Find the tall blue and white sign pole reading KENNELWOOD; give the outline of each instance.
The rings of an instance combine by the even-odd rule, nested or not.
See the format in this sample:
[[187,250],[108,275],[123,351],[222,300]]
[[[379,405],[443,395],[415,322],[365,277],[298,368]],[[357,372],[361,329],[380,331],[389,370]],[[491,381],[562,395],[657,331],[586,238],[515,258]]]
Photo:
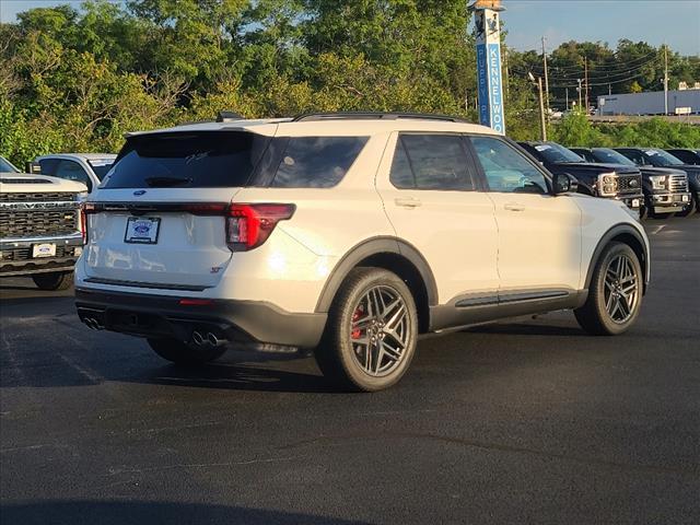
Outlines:
[[503,80],[501,73],[501,0],[476,0],[477,85],[479,122],[505,135]]

